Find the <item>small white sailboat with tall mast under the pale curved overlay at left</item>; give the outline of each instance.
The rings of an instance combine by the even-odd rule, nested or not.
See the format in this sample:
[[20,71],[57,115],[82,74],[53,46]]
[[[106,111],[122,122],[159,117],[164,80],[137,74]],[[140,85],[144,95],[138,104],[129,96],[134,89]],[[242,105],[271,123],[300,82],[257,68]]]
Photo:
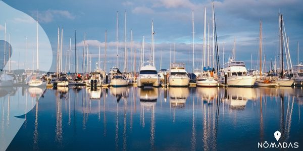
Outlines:
[[39,73],[39,44],[38,44],[38,20],[36,21],[36,30],[37,30],[37,35],[36,35],[36,38],[37,38],[37,73],[35,75],[33,75],[28,83],[28,86],[29,87],[43,87],[43,86],[46,86],[46,81],[45,80],[42,80],[42,79],[39,79],[38,78],[38,73]]

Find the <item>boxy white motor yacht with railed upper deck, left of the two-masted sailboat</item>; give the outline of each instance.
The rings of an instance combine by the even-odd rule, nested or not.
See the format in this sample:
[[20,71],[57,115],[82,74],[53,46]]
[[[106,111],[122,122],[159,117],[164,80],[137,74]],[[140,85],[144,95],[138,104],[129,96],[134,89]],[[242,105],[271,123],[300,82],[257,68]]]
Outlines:
[[189,77],[184,63],[171,64],[168,82],[170,87],[187,87],[189,85]]

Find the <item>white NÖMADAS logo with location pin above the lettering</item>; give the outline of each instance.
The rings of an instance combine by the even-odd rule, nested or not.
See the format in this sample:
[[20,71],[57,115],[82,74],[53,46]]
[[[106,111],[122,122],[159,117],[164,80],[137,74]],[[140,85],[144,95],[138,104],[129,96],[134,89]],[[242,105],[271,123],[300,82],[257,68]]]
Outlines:
[[[280,131],[275,131],[274,132],[274,137],[276,138],[277,141],[279,141],[281,137],[281,132]],[[283,140],[282,140],[283,141]],[[298,142],[258,142],[258,148],[298,148],[299,143]]]

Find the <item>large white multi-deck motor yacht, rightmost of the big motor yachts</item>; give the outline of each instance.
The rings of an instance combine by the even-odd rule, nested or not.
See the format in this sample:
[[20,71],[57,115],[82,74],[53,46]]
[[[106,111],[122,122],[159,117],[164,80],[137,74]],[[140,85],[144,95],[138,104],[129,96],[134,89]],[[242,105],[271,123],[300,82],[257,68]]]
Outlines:
[[224,70],[221,72],[221,84],[225,84],[225,73],[227,74],[227,84],[232,87],[252,87],[254,86],[257,77],[255,75],[247,75],[245,63],[243,61],[234,61],[229,59],[224,65]]

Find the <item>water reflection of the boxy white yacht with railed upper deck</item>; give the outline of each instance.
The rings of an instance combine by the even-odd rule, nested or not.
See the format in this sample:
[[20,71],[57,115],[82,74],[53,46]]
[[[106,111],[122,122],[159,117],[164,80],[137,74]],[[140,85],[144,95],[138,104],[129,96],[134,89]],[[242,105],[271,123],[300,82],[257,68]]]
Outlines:
[[169,103],[173,108],[184,108],[186,99],[189,96],[188,88],[169,88]]

